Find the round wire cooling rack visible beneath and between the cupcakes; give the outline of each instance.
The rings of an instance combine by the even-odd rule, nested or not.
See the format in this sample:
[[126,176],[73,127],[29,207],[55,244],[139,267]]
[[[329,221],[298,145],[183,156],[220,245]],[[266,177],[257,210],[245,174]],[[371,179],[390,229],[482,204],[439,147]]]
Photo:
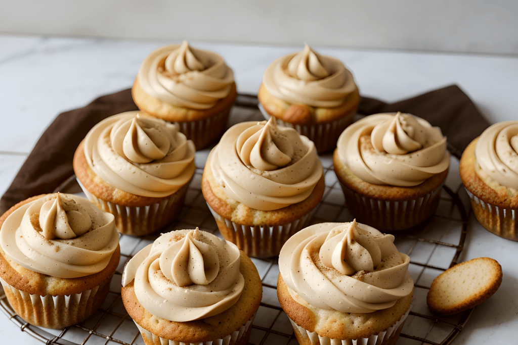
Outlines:
[[[230,117],[230,125],[242,121],[261,121],[257,110],[257,98],[253,95],[239,95],[236,107]],[[217,225],[209,212],[201,191],[203,167],[210,149],[196,152],[196,171],[186,195],[185,205],[179,220],[161,232],[178,229],[202,230],[219,235]],[[452,152],[457,156],[456,152]],[[457,263],[467,230],[467,207],[463,196],[459,196],[462,184],[458,177],[458,156],[451,158],[450,173],[441,191],[439,207],[434,216],[411,233],[397,233],[395,244],[399,251],[410,256],[409,272],[415,282],[412,310],[402,329],[398,345],[447,345],[462,331],[472,309],[456,316],[437,318],[426,306],[426,294],[431,282],[445,269]],[[312,223],[346,222],[353,220],[333,170],[332,154],[320,156],[324,166],[325,191],[322,202],[316,208]],[[80,192],[72,176],[56,191]],[[462,199],[462,200],[461,200]],[[464,202],[464,203],[463,203]],[[41,342],[63,345],[143,345],[140,333],[128,316],[120,295],[121,275],[125,263],[140,249],[152,243],[157,235],[142,238],[121,235],[121,259],[113,276],[110,292],[104,304],[84,322],[64,329],[40,328],[26,323],[10,306],[0,287],[0,309],[26,332]],[[252,258],[263,283],[263,299],[252,325],[249,344],[296,345],[290,320],[282,311],[277,299],[277,259],[260,260]],[[4,322],[0,320],[0,322]],[[13,331],[14,332],[14,331]]]

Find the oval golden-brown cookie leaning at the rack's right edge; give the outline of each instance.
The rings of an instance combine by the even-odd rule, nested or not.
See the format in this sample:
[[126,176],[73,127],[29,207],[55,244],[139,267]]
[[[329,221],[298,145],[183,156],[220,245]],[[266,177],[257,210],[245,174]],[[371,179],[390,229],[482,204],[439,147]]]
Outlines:
[[431,284],[426,304],[438,315],[468,310],[491,297],[502,282],[502,267],[491,258],[477,258],[447,269]]

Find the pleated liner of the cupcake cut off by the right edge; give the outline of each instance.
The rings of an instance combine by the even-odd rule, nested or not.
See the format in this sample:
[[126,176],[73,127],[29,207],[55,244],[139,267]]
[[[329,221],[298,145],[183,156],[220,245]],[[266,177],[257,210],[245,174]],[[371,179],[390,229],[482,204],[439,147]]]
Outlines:
[[503,238],[518,241],[516,212],[518,209],[502,208],[486,203],[474,196],[467,188],[471,207],[480,224],[488,231]]

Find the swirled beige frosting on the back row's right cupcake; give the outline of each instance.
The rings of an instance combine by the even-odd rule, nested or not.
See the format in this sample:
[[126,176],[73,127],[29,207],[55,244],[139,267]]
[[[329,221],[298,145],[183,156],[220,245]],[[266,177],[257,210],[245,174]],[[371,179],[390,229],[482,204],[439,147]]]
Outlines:
[[307,44],[303,51],[272,62],[264,72],[263,85],[286,102],[323,108],[341,106],[358,90],[351,72],[339,59],[320,55]]

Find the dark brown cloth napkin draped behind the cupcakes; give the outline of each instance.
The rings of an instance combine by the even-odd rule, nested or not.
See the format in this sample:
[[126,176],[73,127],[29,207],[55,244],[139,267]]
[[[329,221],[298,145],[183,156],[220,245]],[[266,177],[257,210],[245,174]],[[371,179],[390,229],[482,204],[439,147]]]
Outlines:
[[[97,98],[88,106],[56,117],[23,163],[11,186],[0,200],[0,215],[32,196],[51,193],[74,174],[74,152],[88,131],[102,119],[137,110],[131,90]],[[425,118],[441,128],[455,155],[489,126],[469,97],[456,85],[395,103],[362,98],[358,113],[406,112]]]

